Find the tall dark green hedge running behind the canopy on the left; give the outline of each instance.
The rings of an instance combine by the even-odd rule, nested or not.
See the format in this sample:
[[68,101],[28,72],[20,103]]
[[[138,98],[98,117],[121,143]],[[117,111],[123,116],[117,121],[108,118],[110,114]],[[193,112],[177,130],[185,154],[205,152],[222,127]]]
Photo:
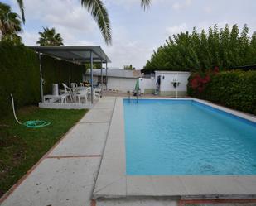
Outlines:
[[[42,71],[45,79],[44,93],[51,93],[52,83],[80,82],[84,65],[42,56]],[[0,42],[0,118],[12,112],[10,93],[20,108],[40,101],[40,74],[38,55],[26,46],[13,46]]]

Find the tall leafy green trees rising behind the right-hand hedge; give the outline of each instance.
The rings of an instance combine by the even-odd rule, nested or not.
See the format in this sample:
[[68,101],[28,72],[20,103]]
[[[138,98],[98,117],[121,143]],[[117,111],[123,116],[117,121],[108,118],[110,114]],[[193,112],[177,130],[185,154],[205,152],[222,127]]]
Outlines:
[[249,28],[239,32],[237,25],[219,29],[217,25],[198,33],[181,32],[169,36],[163,46],[153,51],[145,69],[205,71],[218,66],[232,69],[236,66],[256,64],[256,33],[249,37]]

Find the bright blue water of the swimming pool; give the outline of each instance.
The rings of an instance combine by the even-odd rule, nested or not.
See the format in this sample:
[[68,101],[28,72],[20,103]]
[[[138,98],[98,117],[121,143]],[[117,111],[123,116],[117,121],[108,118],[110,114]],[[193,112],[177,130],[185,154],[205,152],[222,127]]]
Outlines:
[[127,175],[256,175],[256,124],[192,100],[124,100]]

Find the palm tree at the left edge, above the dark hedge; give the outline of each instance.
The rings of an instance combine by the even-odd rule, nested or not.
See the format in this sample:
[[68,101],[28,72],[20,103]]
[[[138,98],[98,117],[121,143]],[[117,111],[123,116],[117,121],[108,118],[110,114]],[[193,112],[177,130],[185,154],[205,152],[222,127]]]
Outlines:
[[0,2],[0,40],[20,43],[22,38],[17,34],[22,31],[22,22],[17,13],[11,11],[11,7]]

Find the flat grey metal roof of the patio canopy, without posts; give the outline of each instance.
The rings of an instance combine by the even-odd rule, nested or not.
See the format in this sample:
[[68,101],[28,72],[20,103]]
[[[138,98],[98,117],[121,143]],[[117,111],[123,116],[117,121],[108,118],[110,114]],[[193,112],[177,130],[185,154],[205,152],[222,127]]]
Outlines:
[[94,63],[109,63],[109,57],[100,46],[27,46],[32,50],[45,55],[51,55],[62,60],[90,63],[90,53],[93,54]]

